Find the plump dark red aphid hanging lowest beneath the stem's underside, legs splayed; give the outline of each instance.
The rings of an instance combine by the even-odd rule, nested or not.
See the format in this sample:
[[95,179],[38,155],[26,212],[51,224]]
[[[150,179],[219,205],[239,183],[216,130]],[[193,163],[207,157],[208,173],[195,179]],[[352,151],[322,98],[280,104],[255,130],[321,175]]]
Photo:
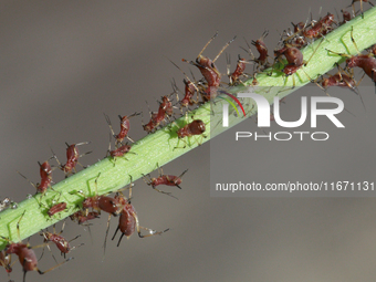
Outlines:
[[[115,237],[116,237],[117,231],[121,230],[122,236],[118,239],[117,247],[121,244],[121,241],[122,241],[124,236],[129,238],[136,230],[137,230],[137,233],[138,233],[139,238],[146,238],[146,237],[152,237],[152,236],[156,236],[156,234],[161,234],[161,233],[164,233],[164,232],[169,230],[169,228],[167,228],[164,231],[155,231],[155,230],[152,230],[152,229],[148,229],[148,228],[139,226],[136,210],[135,210],[135,208],[130,203],[132,186],[129,187],[129,198],[126,199],[123,196],[121,198],[122,198],[123,201],[125,201],[125,205],[124,205],[124,207],[122,209],[122,213],[121,213],[121,217],[118,219],[117,229],[116,229],[116,231],[115,231],[115,233],[114,233],[114,236],[112,238],[112,240],[114,240]],[[140,229],[148,230],[149,234],[142,234]]]

